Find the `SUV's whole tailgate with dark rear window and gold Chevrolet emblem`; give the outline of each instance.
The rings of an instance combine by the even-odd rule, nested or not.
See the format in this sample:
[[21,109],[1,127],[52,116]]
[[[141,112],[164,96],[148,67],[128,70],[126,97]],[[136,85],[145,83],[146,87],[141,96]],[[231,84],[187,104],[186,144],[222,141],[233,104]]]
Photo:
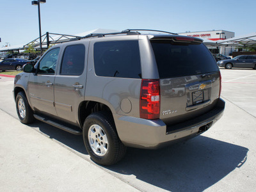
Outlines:
[[211,52],[193,38],[150,40],[161,89],[160,118],[176,124],[214,108],[220,72]]

